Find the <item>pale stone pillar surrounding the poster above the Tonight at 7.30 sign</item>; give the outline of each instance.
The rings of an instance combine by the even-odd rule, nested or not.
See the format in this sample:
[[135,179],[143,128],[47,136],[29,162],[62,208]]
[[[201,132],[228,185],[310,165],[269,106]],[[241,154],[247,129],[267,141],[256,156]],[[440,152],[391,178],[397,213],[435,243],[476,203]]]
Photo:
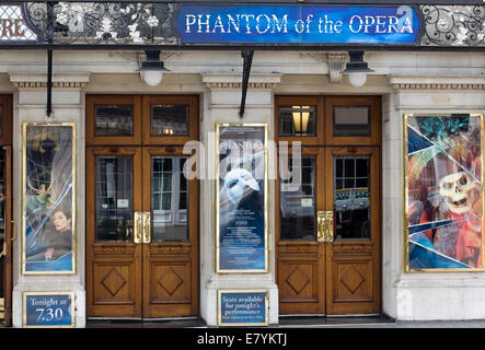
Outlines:
[[84,97],[82,89],[89,81],[88,73],[56,73],[53,77],[51,122],[77,124],[77,226],[76,271],[73,275],[22,275],[22,122],[46,122],[47,75],[45,73],[10,73],[10,81],[18,89],[13,108],[13,212],[18,222],[19,238],[13,245],[13,327],[23,326],[23,292],[74,292],[76,327],[85,327],[85,240],[84,240]]

